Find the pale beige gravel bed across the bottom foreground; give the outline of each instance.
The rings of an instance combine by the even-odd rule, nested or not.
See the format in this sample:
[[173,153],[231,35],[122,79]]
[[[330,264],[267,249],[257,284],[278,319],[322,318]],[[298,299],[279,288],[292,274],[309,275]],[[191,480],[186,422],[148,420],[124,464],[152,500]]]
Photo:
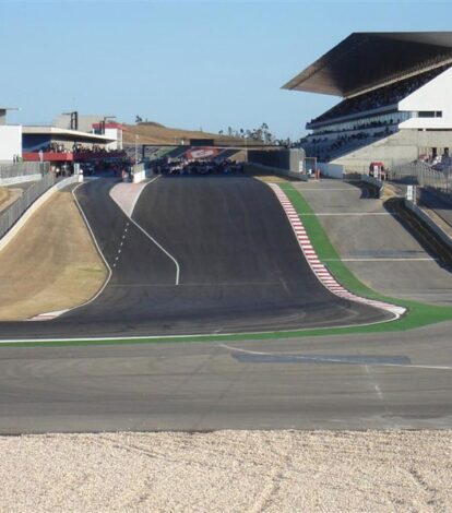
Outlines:
[[0,438],[4,512],[450,512],[452,431]]

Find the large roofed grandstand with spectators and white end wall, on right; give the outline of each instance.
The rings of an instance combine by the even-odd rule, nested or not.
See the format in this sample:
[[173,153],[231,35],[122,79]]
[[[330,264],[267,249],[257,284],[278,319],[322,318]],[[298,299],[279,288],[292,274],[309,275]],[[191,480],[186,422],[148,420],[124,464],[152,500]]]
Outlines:
[[354,33],[283,87],[343,99],[306,124],[308,157],[366,171],[452,155],[452,32]]

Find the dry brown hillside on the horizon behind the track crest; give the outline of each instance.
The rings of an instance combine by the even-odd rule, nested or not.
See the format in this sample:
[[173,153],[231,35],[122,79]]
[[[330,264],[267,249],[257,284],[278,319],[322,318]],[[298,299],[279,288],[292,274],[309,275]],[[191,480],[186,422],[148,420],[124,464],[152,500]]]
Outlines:
[[[181,144],[182,140],[214,139],[216,144],[242,146],[243,140],[218,135],[217,133],[201,132],[199,130],[181,130],[167,128],[155,122],[140,124],[123,124],[122,141],[126,145],[138,144]],[[135,136],[138,135],[138,140]],[[254,142],[255,144],[255,142]]]

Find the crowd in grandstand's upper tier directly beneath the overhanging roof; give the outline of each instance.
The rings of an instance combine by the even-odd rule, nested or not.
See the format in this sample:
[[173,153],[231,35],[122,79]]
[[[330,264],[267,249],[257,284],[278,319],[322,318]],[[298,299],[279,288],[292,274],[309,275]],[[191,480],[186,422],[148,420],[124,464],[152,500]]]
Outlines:
[[365,112],[368,110],[397,104],[411,93],[418,90],[427,82],[430,82],[432,79],[445,71],[448,68],[450,68],[450,64],[444,64],[415,76],[385,85],[378,90],[364,93],[359,96],[344,99],[332,109],[311,120],[308,123],[308,127],[313,123],[320,123],[322,121],[328,121],[334,118],[341,118],[343,116],[349,116],[356,112]]

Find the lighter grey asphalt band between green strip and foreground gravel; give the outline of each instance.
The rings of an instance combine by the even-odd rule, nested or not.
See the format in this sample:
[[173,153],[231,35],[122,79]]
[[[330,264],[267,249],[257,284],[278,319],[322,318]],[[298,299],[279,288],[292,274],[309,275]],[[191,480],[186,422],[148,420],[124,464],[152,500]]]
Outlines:
[[0,433],[452,428],[452,323],[0,350]]

